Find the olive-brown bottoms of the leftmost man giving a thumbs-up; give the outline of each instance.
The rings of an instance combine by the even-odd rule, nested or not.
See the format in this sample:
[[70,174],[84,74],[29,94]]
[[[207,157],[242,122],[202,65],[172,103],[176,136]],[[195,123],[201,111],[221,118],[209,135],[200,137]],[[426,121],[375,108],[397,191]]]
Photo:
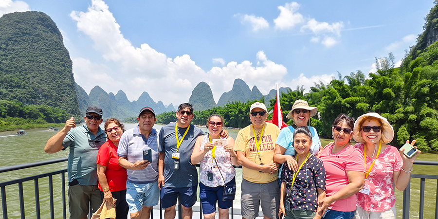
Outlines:
[[95,212],[102,204],[100,190],[97,185],[73,185],[69,186],[69,209],[70,219],[82,219],[90,212]]

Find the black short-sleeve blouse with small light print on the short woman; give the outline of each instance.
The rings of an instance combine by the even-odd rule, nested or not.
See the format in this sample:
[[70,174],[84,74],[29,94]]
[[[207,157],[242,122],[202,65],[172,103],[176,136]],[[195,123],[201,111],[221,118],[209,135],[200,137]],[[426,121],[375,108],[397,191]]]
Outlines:
[[318,190],[326,190],[326,170],[323,162],[314,155],[298,170],[292,186],[294,171],[283,164],[281,181],[286,183],[286,199],[291,201],[292,210],[316,212],[318,208]]

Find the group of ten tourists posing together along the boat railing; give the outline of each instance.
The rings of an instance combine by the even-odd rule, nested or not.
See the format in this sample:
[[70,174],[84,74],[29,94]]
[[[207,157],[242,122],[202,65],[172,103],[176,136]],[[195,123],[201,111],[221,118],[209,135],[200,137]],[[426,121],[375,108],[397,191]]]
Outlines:
[[251,125],[235,141],[222,129],[219,114],[208,117],[208,133],[190,124],[194,113],[188,103],[178,107],[177,122],[159,133],[150,107],[140,110],[135,128],[125,130],[110,118],[102,130],[102,109],[90,106],[83,126],[76,127],[73,117],[67,120],[44,150],[69,147],[71,219],[87,218],[89,206],[94,212],[103,200],[115,206],[116,218],[129,214],[131,219],[149,219],[160,200],[164,218],[174,219],[178,197],[183,219],[191,219],[198,163],[206,219],[214,219],[217,210],[219,219],[229,218],[237,188],[233,165],[242,165],[243,219],[258,217],[260,206],[264,219],[395,219],[394,187],[406,188],[420,151],[408,158],[403,149],[387,145],[394,129],[373,112],[356,121],[340,114],[332,125],[334,141],[322,146],[309,125],[317,111],[295,101],[287,115],[293,125],[280,130],[266,122],[268,110],[256,102],[249,111]]

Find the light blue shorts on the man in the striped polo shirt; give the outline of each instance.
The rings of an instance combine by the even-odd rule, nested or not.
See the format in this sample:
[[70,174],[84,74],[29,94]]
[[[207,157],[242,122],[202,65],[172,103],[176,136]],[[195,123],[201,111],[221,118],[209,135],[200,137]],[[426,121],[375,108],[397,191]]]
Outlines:
[[159,197],[158,181],[146,184],[126,182],[126,202],[129,206],[129,213],[139,212],[143,206],[157,205]]

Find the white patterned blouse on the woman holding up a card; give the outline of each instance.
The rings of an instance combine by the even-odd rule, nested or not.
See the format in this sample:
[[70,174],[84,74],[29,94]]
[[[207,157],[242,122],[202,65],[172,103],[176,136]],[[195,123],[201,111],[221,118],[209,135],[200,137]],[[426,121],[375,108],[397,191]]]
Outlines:
[[[220,137],[219,139],[226,138]],[[204,135],[200,150],[203,150],[205,144],[208,142],[210,142],[208,135]],[[231,164],[231,155],[229,152],[225,151],[223,146],[216,146],[215,159],[218,164],[216,164],[216,162],[213,160],[213,150],[209,150],[199,163],[201,175],[199,177],[199,180],[202,184],[209,187],[225,185],[226,183],[229,183],[231,180],[233,180],[233,178],[236,176],[236,170],[234,169],[233,164]],[[213,173],[212,181],[209,181],[207,179],[207,172]]]

